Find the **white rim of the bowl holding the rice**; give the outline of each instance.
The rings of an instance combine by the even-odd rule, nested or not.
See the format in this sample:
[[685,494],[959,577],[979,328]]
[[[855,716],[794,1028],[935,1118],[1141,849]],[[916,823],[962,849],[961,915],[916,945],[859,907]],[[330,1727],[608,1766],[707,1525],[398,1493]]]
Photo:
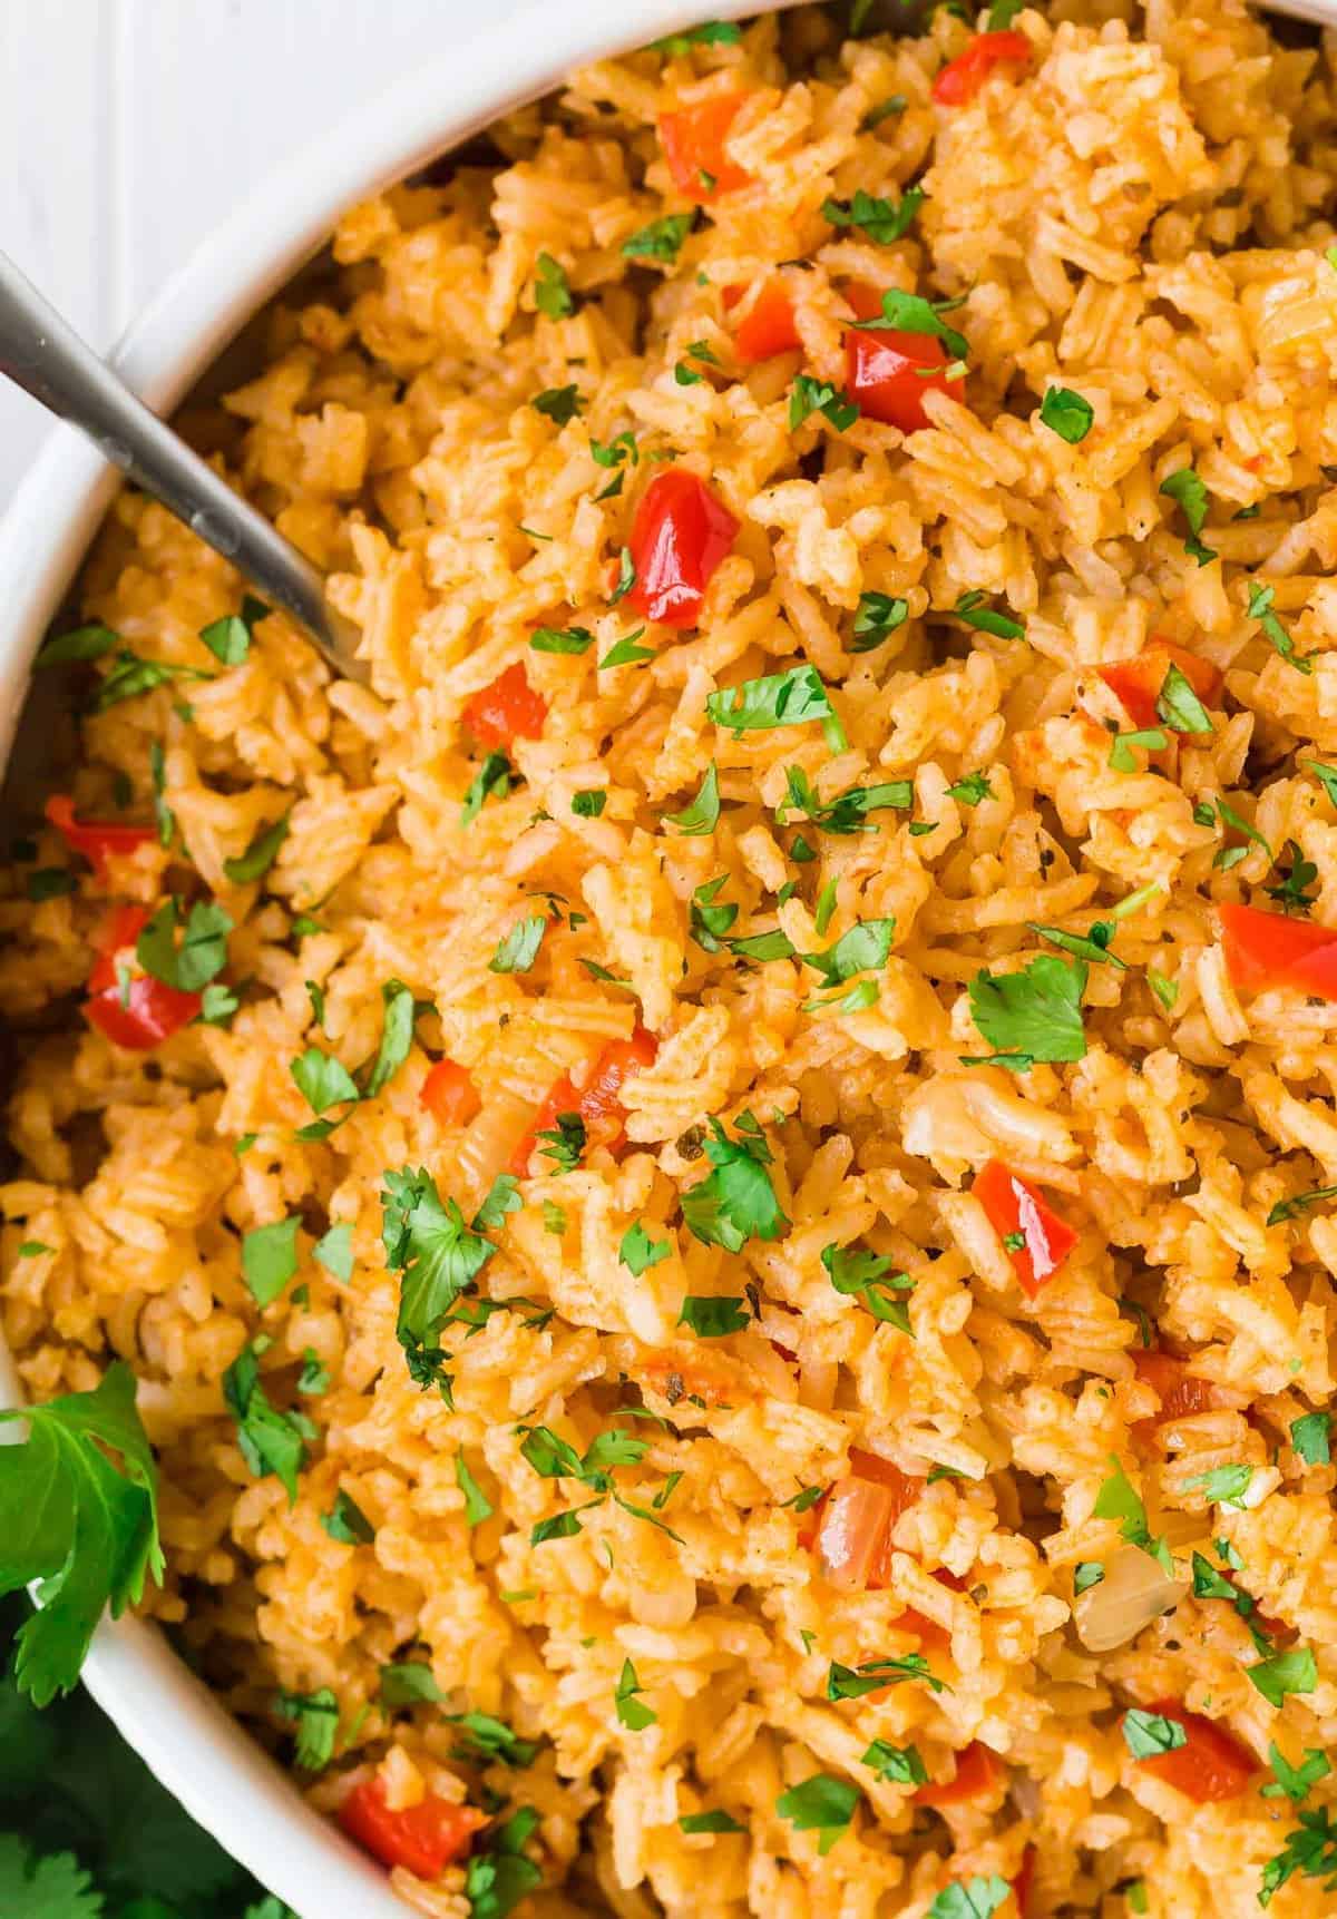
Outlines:
[[[793,0],[770,0],[790,6]],[[328,238],[338,215],[557,86],[592,59],[699,21],[740,19],[759,0],[528,0],[509,19],[450,27],[442,50],[305,146],[280,182],[204,238],[108,355],[167,413],[242,324]],[[71,426],[56,426],[0,520],[0,760],[29,668],[119,486]],[[0,1338],[0,1409],[23,1393]],[[17,1437],[13,1426],[0,1428]],[[403,1919],[373,1861],[313,1812],[288,1775],[144,1620],[104,1620],[85,1685],[186,1812],[304,1919]]]

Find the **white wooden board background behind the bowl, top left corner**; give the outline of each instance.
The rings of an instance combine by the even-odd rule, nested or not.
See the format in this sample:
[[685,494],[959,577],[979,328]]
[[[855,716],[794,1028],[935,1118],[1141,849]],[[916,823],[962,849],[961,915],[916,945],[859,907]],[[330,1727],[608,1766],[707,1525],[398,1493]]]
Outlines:
[[[425,50],[467,59],[476,19],[478,0],[0,0],[0,248],[108,347],[286,155]],[[2,384],[0,510],[44,432]]]

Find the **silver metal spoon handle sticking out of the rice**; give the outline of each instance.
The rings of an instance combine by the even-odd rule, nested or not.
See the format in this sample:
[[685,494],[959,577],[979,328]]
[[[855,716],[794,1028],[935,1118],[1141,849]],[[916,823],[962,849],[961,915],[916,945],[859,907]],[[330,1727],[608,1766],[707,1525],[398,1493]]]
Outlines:
[[325,576],[192,453],[0,253],[0,372],[161,501],[311,635],[346,679],[367,679],[359,629],[325,599]]

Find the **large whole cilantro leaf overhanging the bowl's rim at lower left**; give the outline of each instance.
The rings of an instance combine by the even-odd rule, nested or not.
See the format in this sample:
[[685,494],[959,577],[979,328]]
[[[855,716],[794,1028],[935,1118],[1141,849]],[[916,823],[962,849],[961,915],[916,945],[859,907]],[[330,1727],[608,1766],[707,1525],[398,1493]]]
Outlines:
[[119,1618],[146,1577],[163,1575],[158,1468],[123,1361],[90,1393],[0,1412],[0,1424],[19,1418],[29,1422],[23,1445],[0,1445],[0,1593],[40,1581],[40,1610],[17,1633],[15,1677],[46,1706],[79,1679],[104,1608]]

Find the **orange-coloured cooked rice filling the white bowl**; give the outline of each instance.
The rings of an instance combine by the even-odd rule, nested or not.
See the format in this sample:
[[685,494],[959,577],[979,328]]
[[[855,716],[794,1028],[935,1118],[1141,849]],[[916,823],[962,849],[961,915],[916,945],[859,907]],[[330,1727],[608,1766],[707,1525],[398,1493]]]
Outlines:
[[[1033,1848],[1032,1919],[1245,1919],[1297,1823],[1287,1798],[1258,1792],[1268,1746],[1299,1764],[1337,1735],[1333,1468],[1306,1466],[1289,1432],[1333,1391],[1337,1222],[1320,1203],[1264,1224],[1337,1180],[1337,1004],[1239,992],[1216,917],[1222,902],[1272,906],[1272,854],[1295,841],[1318,869],[1312,921],[1337,925],[1337,825],[1302,764],[1337,756],[1333,42],[1279,42],[1235,0],[1155,0],[1145,15],[1058,0],[1014,27],[1033,71],[997,73],[955,109],[930,84],[974,29],[945,10],[922,38],[841,44],[834,10],[805,10],[736,44],[609,59],[503,121],[501,165],[353,209],[338,274],[273,311],[263,372],[194,424],[332,572],[371,687],[332,679],[271,616],[240,666],[90,718],[79,816],[150,817],[161,743],[181,841],[113,860],[102,881],[73,860],[79,888],[38,904],[31,864],[15,864],[0,906],[0,1004],[23,1032],[4,1334],[29,1391],[86,1389],[111,1357],[131,1361],[169,1554],[146,1610],[179,1625],[279,1750],[275,1693],[334,1689],[344,1744],[311,1783],[319,1806],[375,1767],[392,1804],[425,1789],[478,1800],[482,1781],[534,1806],[547,1881],[534,1915],[586,1909],[580,1886],[597,1881],[626,1919],[922,1919],[951,1883],[1014,1879]],[[751,98],[728,157],[753,184],[707,207],[676,265],[628,261],[630,234],[684,209],[657,113],[734,84]],[[891,96],[903,109],[864,129]],[[928,198],[893,244],[820,215],[828,196],[895,198],[920,177]],[[536,313],[540,253],[569,274],[574,315]],[[790,261],[801,363],[740,372],[722,290]],[[960,397],[928,391],[932,426],[909,438],[868,416],[791,432],[799,365],[845,380],[843,290],[859,280],[964,296]],[[680,384],[699,342],[720,370]],[[532,399],[569,382],[584,411],[559,426]],[[1091,403],[1085,441],[1041,424],[1051,384]],[[611,468],[592,438],[626,430],[640,464],[599,499]],[[709,480],[740,532],[699,629],[651,626],[647,664],[599,670],[644,626],[609,603],[609,580],[661,459]],[[1195,562],[1158,493],[1187,464],[1214,503],[1218,564]],[[1247,616],[1254,581],[1276,589],[1310,674]],[[240,593],[221,558],[125,493],[83,603],[138,654],[213,670],[196,635]],[[905,597],[911,616],[855,651],[864,593]],[[1024,639],[953,620],[962,593],[1024,622]],[[594,645],[536,652],[538,626],[586,628]],[[1153,633],[1220,668],[1226,693],[1210,739],[1135,748],[1126,771],[1108,729],[1130,722],[1097,668]],[[814,725],[736,739],[709,722],[713,689],[805,660],[836,689],[843,750]],[[482,752],[461,712],[515,662],[547,723],[513,745],[511,791],[465,827]],[[665,816],[711,762],[718,825],[682,835]],[[911,779],[914,808],[849,837],[809,825],[818,858],[801,865],[776,821],[788,768],[822,798]],[[974,771],[991,796],[966,804],[949,789]],[[572,794],[590,789],[603,812],[578,817]],[[1203,821],[1222,796],[1268,846],[1233,833],[1220,860],[1222,821]],[[288,808],[277,864],[232,885],[223,862]],[[38,865],[65,858],[46,829]],[[690,902],[718,875],[740,908],[730,938],[780,927],[809,954],[895,917],[876,1002],[813,1011],[797,958],[707,952]],[[1082,1059],[1022,1075],[960,1063],[993,1050],[970,1017],[982,967],[1043,950],[1032,923],[1087,935],[1153,881],[1118,927],[1128,971],[1091,965]],[[192,888],[236,923],[225,977],[242,1007],[231,1027],[121,1052],[67,998],[108,902]],[[547,898],[534,967],[490,971]],[[304,913],[319,931],[296,936]],[[1178,988],[1170,1006],[1149,969]],[[407,1063],[327,1140],[296,1140],[311,1111],[288,1061],[315,1044],[359,1067],[390,979],[434,1007]],[[626,1084],[630,1149],[596,1142],[574,1171],[523,1180],[480,1295],[536,1307],[453,1330],[451,1410],[396,1341],[384,1173],[430,1169],[471,1217],[549,1086],[563,1073],[578,1086],[638,1019],[659,1057]],[[440,1055],[482,1100],[465,1128],[421,1103]],[[730,1255],[678,1207],[707,1123],[732,1134],[749,1111],[791,1224]],[[972,1196],[991,1157],[1080,1230],[1033,1299]],[[309,1228],[300,1272],[259,1311],[240,1236],[292,1213]],[[636,1220],[670,1249],[638,1278],[619,1259]],[[309,1257],[328,1222],[353,1230],[348,1284]],[[46,1251],[21,1255],[31,1242]],[[899,1295],[911,1338],[832,1288],[822,1249],[855,1242],[916,1282]],[[695,1338],[678,1313],[703,1293],[751,1299],[755,1324]],[[1214,1410],[1151,1439],[1139,1322],[1220,1387]],[[261,1330],[271,1399],[321,1430],[294,1504],[252,1476],[221,1395]],[[307,1351],[330,1386],[298,1401]],[[605,1497],[574,1537],[530,1545],[536,1522],[596,1495],[540,1478],[517,1428],[584,1451],[636,1405],[659,1424],[636,1424],[649,1449],[617,1468],[628,1504]],[[841,1480],[851,1445],[922,1481],[884,1589],[824,1579],[786,1504]],[[473,1529],[461,1449],[496,1508]],[[1314,1648],[1312,1691],[1268,1704],[1247,1677],[1245,1620],[1183,1585],[1135,1637],[1087,1648],[1078,1564],[1151,1564],[1093,1512],[1110,1455],[1185,1577],[1195,1549],[1229,1541],[1281,1643]],[[1226,1464],[1254,1468],[1241,1508],[1193,1483]],[[655,1512],[668,1474],[682,1478]],[[323,1529],[340,1489],[375,1545]],[[924,1645],[941,1691],[828,1700],[834,1660]],[[415,1650],[448,1704],[388,1712],[380,1668]],[[657,1714],[644,1729],[615,1710],[626,1660]],[[1256,1756],[1247,1792],[1197,1806],[1133,1758],[1122,1712],[1162,1698]],[[505,1719],[538,1758],[478,1773],[446,1710]],[[930,1812],[874,1777],[872,1741],[914,1742],[934,1779],[980,1741],[997,1783]],[[863,1796],[824,1856],[776,1812],[818,1771]],[[1331,1808],[1329,1783],[1306,1804]],[[684,1835],[680,1817],[705,1808],[743,1833]],[[423,1913],[469,1911],[459,1865],[434,1886],[400,1869],[396,1884]],[[1272,1911],[1333,1909],[1316,1884],[1297,1875]]]

